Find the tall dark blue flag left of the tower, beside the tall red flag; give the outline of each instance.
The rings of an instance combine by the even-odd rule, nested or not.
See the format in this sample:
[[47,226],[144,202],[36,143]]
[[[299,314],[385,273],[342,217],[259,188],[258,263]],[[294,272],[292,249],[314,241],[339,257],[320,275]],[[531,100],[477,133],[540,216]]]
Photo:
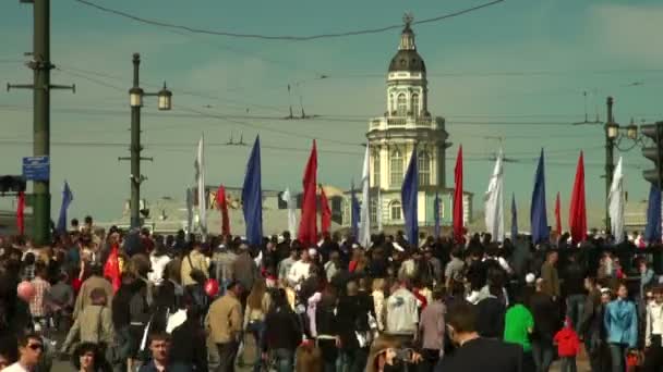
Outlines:
[[255,137],[251,150],[244,186],[242,186],[242,202],[244,223],[246,224],[246,241],[251,245],[263,243],[263,188],[261,183],[261,137]]

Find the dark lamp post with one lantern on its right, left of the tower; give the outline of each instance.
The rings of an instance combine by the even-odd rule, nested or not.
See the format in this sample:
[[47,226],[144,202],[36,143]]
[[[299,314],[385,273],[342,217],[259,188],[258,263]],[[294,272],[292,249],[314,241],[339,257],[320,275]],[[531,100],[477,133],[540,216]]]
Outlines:
[[141,151],[143,146],[141,145],[141,108],[143,107],[144,97],[157,97],[157,108],[161,111],[170,110],[172,107],[172,92],[164,88],[158,92],[145,92],[140,86],[140,65],[141,54],[133,54],[133,86],[129,89],[129,104],[131,107],[131,158],[120,158],[120,160],[131,160],[131,227],[141,227],[141,183],[146,179],[141,174],[141,161],[149,160],[152,158],[142,158]]

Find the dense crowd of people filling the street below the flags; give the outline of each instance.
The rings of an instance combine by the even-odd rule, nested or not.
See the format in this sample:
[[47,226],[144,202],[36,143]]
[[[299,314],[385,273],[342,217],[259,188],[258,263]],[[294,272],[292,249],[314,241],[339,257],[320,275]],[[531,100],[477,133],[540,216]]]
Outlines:
[[658,248],[600,234],[53,236],[0,236],[1,371],[663,371]]

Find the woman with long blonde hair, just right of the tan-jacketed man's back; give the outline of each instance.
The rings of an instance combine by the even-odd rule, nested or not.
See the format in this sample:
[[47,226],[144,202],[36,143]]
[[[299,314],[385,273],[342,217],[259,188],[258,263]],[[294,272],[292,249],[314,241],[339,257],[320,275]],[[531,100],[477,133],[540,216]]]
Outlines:
[[256,360],[253,365],[254,371],[262,369],[261,345],[265,334],[265,317],[272,306],[272,298],[267,292],[264,278],[258,278],[253,283],[253,288],[246,298],[246,309],[244,311],[244,330],[255,338]]

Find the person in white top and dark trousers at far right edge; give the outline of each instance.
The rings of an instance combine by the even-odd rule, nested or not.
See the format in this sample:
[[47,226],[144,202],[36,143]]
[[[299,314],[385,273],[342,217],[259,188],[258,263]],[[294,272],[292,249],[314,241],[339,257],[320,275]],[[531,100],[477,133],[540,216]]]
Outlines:
[[653,290],[654,300],[647,306],[644,328],[644,371],[655,371],[663,365],[663,287]]

